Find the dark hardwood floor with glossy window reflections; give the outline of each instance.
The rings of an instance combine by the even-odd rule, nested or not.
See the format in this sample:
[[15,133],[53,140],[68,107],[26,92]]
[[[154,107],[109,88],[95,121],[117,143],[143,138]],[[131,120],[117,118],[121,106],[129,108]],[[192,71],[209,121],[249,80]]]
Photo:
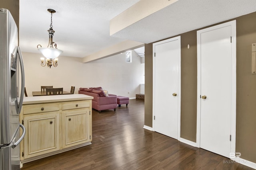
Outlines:
[[252,170],[204,149],[143,129],[144,100],[92,111],[92,145],[23,164],[22,170]]

